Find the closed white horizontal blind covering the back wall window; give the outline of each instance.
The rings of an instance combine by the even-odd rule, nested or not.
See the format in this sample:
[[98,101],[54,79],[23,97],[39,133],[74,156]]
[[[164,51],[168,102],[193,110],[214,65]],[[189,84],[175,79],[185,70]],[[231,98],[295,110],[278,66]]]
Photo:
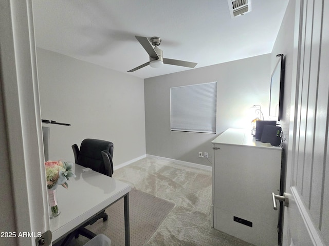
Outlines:
[[217,82],[170,88],[171,130],[216,133]]

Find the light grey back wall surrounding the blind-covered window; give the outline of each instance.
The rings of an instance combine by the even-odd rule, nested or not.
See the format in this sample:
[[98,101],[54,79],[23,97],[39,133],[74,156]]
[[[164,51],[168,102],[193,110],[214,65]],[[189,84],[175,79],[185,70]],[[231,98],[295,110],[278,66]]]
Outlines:
[[[270,58],[255,56],[145,79],[147,154],[210,166],[198,152],[213,156],[211,141],[219,133],[250,126],[252,105],[261,105],[268,115]],[[217,81],[217,134],[171,132],[170,88],[212,81]]]

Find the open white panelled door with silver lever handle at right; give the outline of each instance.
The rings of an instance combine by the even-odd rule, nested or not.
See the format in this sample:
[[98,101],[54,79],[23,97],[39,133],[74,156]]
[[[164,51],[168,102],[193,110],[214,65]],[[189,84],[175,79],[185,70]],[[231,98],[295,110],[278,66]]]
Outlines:
[[283,245],[329,245],[329,1],[296,0],[294,49]]

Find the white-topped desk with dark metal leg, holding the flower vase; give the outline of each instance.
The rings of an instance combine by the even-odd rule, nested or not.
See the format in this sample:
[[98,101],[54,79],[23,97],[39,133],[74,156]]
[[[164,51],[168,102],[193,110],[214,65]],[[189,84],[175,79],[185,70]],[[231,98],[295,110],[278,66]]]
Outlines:
[[[83,172],[75,165],[76,178],[70,178],[68,189],[57,189],[61,214],[50,219],[52,241],[79,228],[85,221],[124,197],[125,243],[130,245],[129,199],[131,186],[95,171]],[[109,215],[111,217],[111,215]]]

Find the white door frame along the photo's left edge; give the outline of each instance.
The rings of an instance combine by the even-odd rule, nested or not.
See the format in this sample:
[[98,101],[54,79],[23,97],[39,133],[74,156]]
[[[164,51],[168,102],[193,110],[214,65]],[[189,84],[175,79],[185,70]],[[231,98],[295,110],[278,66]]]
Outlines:
[[8,233],[0,244],[36,245],[50,223],[31,0],[1,0],[0,23],[0,104],[6,126],[0,134],[6,139],[10,169],[6,175],[11,180],[6,186],[14,201],[2,214],[6,210],[15,214],[10,231],[7,224],[0,224]]

